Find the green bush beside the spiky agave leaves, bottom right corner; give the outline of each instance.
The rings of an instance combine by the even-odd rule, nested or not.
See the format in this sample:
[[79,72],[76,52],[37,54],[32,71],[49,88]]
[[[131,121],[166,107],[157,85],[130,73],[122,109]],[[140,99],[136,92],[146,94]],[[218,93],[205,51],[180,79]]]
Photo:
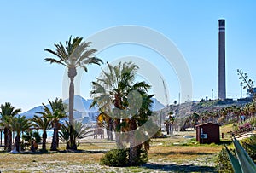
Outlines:
[[[232,153],[235,153],[234,150],[230,150]],[[232,168],[232,164],[230,163],[230,159],[228,156],[227,151],[225,148],[223,148],[220,153],[218,153],[218,158],[217,158],[217,170],[219,172],[234,172]]]

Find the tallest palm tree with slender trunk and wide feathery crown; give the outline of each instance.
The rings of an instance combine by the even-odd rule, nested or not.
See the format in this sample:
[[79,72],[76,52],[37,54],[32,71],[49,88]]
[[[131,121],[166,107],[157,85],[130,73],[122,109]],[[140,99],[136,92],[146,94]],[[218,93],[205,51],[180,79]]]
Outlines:
[[[69,37],[66,46],[60,42],[55,44],[55,50],[45,49],[45,51],[57,56],[55,58],[45,58],[44,61],[50,63],[61,64],[66,66],[67,76],[70,78],[69,86],[69,122],[73,124],[73,97],[74,97],[74,84],[73,79],[77,75],[77,67],[82,67],[87,72],[87,65],[96,64],[100,65],[102,60],[95,57],[96,49],[89,49],[91,42],[82,42],[83,37]],[[72,126],[71,126],[72,127]],[[73,130],[73,128],[71,129]],[[73,136],[71,138],[71,147],[76,148],[76,142]]]

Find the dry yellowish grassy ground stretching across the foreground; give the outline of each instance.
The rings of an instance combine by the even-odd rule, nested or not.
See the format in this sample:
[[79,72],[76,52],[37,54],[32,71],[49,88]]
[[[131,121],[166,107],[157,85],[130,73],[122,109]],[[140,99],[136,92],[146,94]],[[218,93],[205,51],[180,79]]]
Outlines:
[[[114,143],[104,140],[81,143],[77,153],[0,152],[3,172],[214,172],[214,158],[222,145],[199,145],[194,139],[172,136],[155,139],[149,150],[149,162],[141,167],[116,168],[99,165],[99,160]],[[48,147],[50,145],[48,144]],[[65,145],[61,145],[61,150]]]

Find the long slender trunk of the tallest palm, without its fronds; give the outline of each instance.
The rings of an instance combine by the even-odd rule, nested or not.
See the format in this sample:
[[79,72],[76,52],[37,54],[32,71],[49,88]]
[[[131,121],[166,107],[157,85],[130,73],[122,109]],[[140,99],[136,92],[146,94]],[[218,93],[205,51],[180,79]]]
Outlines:
[[74,129],[73,129],[73,97],[74,97],[74,84],[73,79],[77,75],[77,71],[75,67],[68,68],[68,77],[70,78],[69,85],[69,123],[70,127],[70,144],[71,149],[77,150],[77,145],[74,137]]

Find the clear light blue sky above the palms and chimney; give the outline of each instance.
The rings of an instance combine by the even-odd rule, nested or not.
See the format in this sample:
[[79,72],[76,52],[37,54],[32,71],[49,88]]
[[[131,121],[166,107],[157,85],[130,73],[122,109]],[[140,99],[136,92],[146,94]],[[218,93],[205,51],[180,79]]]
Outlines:
[[[11,102],[26,112],[32,107],[62,97],[63,66],[44,62],[54,43],[70,35],[89,37],[113,26],[145,26],[160,32],[177,46],[189,66],[193,100],[217,97],[218,19],[226,20],[227,96],[240,97],[239,68],[256,79],[256,11],[254,1],[1,1],[0,2],[0,103]],[[137,55],[157,61],[152,50],[134,45],[116,46],[102,51],[103,61]],[[169,102],[180,92],[175,72],[164,75]],[[103,67],[103,66],[102,66]],[[80,84],[86,98],[90,82],[100,67],[89,67]],[[170,70],[170,69],[169,69]],[[243,95],[246,95],[245,91]],[[160,99],[165,102],[164,99]]]

